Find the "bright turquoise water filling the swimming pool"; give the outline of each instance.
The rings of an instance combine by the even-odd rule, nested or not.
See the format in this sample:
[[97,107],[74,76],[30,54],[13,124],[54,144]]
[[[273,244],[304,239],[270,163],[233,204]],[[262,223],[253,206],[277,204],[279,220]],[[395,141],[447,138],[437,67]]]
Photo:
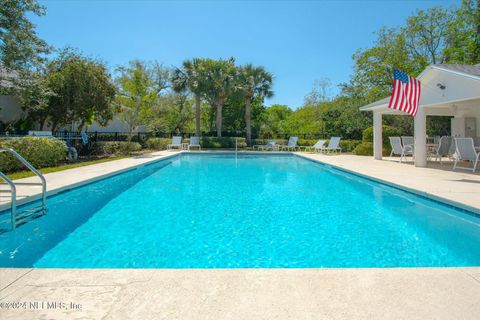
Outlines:
[[47,204],[1,267],[480,265],[477,216],[292,155],[184,154]]

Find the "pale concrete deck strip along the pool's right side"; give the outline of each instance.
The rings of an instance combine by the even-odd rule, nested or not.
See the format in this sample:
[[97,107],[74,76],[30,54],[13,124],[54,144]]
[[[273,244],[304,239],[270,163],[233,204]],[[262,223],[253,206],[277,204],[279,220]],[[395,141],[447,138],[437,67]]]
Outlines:
[[428,168],[392,160],[374,160],[354,155],[298,155],[368,176],[480,214],[480,173],[457,170],[451,164],[429,164]]

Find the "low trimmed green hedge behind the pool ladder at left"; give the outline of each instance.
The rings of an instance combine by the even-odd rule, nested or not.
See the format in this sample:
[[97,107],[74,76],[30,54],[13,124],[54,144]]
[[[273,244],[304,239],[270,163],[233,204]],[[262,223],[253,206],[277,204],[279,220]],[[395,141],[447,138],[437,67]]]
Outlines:
[[[9,138],[0,140],[0,146],[14,149],[35,168],[57,165],[66,160],[68,151],[62,140],[45,137]],[[0,171],[12,172],[24,168],[25,166],[12,155],[0,153]]]

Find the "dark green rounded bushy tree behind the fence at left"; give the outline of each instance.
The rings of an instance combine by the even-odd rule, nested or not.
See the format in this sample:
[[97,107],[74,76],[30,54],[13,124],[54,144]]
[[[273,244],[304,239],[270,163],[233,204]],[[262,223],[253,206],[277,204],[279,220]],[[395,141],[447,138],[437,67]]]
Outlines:
[[112,119],[115,86],[105,65],[65,49],[47,65],[46,87],[53,92],[48,102],[52,130],[77,123],[77,130],[97,121]]

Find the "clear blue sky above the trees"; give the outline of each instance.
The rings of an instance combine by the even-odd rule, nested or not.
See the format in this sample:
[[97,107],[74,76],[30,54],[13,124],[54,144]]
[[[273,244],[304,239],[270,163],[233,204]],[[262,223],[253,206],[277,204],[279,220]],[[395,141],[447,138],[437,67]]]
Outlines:
[[178,66],[192,57],[263,65],[275,76],[267,104],[297,108],[313,81],[348,81],[352,54],[381,26],[402,25],[416,9],[445,1],[40,1],[39,35],[107,62]]

